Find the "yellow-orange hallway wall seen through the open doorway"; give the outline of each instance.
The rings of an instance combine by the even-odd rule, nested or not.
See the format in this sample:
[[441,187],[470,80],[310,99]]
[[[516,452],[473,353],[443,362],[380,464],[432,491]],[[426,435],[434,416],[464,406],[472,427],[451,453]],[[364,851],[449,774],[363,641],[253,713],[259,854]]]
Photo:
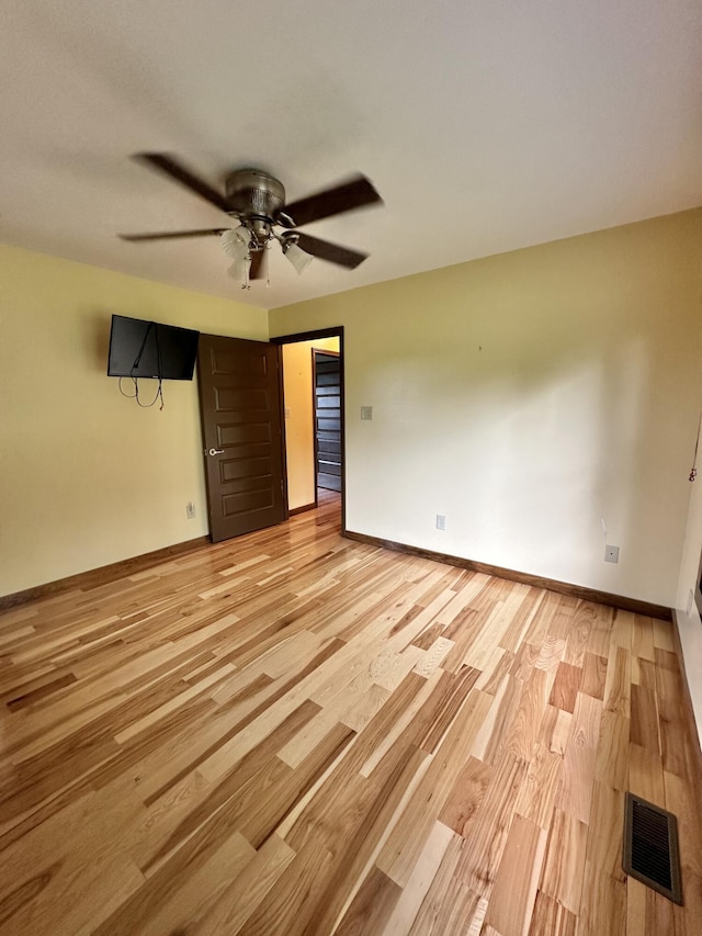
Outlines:
[[312,405],[312,349],[338,351],[338,338],[283,345],[287,506],[315,503],[315,439]]

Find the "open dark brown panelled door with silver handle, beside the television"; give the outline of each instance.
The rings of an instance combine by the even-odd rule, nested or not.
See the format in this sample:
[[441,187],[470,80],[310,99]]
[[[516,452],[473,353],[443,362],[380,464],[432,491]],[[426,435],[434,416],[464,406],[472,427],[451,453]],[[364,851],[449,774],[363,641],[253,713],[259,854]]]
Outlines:
[[201,335],[200,413],[213,542],[286,519],[278,347]]

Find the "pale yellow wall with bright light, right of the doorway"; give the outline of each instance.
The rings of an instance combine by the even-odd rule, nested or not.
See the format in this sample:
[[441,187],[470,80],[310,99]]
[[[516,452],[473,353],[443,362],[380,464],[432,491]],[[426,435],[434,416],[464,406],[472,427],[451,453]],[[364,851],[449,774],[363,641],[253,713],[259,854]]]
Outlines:
[[344,326],[348,528],[671,607],[701,259],[698,210],[272,311]]

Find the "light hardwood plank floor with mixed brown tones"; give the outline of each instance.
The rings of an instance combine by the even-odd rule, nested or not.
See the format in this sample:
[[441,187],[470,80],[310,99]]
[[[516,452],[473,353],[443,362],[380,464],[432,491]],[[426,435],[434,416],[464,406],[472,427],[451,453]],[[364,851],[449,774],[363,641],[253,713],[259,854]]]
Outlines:
[[[0,933],[700,936],[672,625],[337,507],[0,617]],[[621,869],[626,789],[684,907]]]

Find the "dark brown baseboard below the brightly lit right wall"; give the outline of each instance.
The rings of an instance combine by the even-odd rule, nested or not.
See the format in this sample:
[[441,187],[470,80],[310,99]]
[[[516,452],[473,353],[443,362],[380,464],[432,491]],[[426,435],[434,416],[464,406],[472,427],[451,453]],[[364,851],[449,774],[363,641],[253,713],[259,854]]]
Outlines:
[[485,562],[475,562],[472,559],[446,555],[445,553],[424,550],[420,546],[408,546],[405,543],[382,540],[380,537],[369,537],[365,533],[356,533],[352,530],[347,530],[344,535],[350,540],[358,540],[360,543],[370,543],[373,546],[382,546],[386,550],[417,555],[421,559],[433,560],[434,562],[443,562],[446,565],[456,565],[460,568],[469,568],[472,572],[483,572],[486,575],[508,578],[510,582],[520,582],[523,585],[535,585],[537,588],[547,588],[550,591],[558,591],[561,595],[582,598],[585,601],[596,601],[598,605],[608,605],[611,608],[633,611],[635,614],[646,614],[648,618],[660,618],[664,621],[672,620],[672,612],[665,605],[652,605],[648,601],[638,601],[636,598],[625,598],[621,595],[611,595],[609,591],[598,591],[596,588],[587,588],[584,585],[570,585],[568,582],[558,582],[555,578],[542,578],[539,575],[530,575],[526,572],[516,572],[511,568],[502,568],[499,565],[488,565]]

